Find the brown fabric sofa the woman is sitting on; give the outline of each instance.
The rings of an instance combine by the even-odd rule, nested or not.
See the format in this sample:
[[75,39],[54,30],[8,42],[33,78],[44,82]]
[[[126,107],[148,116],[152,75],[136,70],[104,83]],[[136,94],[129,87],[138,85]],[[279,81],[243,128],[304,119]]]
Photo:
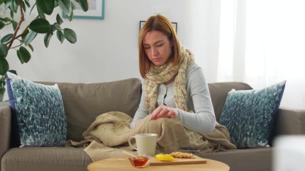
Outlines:
[[[55,82],[38,82],[53,85]],[[138,78],[102,83],[58,83],[67,118],[67,139],[80,141],[82,133],[95,117],[108,111],[121,111],[133,117],[141,96]],[[227,93],[232,89],[252,89],[243,82],[209,83],[209,90],[218,120]],[[15,120],[15,121],[14,121]],[[87,170],[92,162],[82,147],[16,147],[16,117],[9,101],[0,103],[1,171],[13,170]],[[230,170],[271,170],[272,139],[283,134],[305,134],[305,110],[280,108],[274,123],[271,147],[244,148],[214,153],[195,153],[204,158],[222,161]]]

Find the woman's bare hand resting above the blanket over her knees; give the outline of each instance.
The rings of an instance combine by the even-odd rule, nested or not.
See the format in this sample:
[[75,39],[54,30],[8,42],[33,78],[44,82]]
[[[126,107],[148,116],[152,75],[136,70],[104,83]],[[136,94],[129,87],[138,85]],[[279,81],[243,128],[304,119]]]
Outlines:
[[153,113],[151,113],[150,120],[156,120],[158,118],[176,118],[177,110],[173,107],[168,107],[164,104],[157,107]]

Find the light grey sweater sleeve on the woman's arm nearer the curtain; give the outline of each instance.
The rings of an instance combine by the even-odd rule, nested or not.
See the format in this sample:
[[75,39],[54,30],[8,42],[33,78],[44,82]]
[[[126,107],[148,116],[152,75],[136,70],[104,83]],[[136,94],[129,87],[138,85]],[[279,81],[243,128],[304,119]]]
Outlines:
[[215,128],[216,118],[213,104],[203,70],[192,64],[187,71],[187,91],[194,104],[194,112],[177,109],[177,120],[186,128],[198,132],[211,132]]

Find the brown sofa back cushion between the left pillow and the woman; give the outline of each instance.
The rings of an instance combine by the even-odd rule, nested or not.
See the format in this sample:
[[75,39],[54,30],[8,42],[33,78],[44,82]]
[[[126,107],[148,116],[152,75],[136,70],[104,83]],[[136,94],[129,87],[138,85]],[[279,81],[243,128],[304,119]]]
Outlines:
[[[52,85],[55,82],[38,82]],[[121,111],[133,117],[141,97],[138,78],[102,83],[58,83],[66,117],[67,139],[80,141],[99,114]]]

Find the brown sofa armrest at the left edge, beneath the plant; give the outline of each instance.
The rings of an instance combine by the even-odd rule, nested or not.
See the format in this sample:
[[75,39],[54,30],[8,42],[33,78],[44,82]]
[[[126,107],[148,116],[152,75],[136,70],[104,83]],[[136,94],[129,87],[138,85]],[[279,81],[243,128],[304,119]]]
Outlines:
[[10,102],[0,102],[0,159],[10,148],[11,115]]

